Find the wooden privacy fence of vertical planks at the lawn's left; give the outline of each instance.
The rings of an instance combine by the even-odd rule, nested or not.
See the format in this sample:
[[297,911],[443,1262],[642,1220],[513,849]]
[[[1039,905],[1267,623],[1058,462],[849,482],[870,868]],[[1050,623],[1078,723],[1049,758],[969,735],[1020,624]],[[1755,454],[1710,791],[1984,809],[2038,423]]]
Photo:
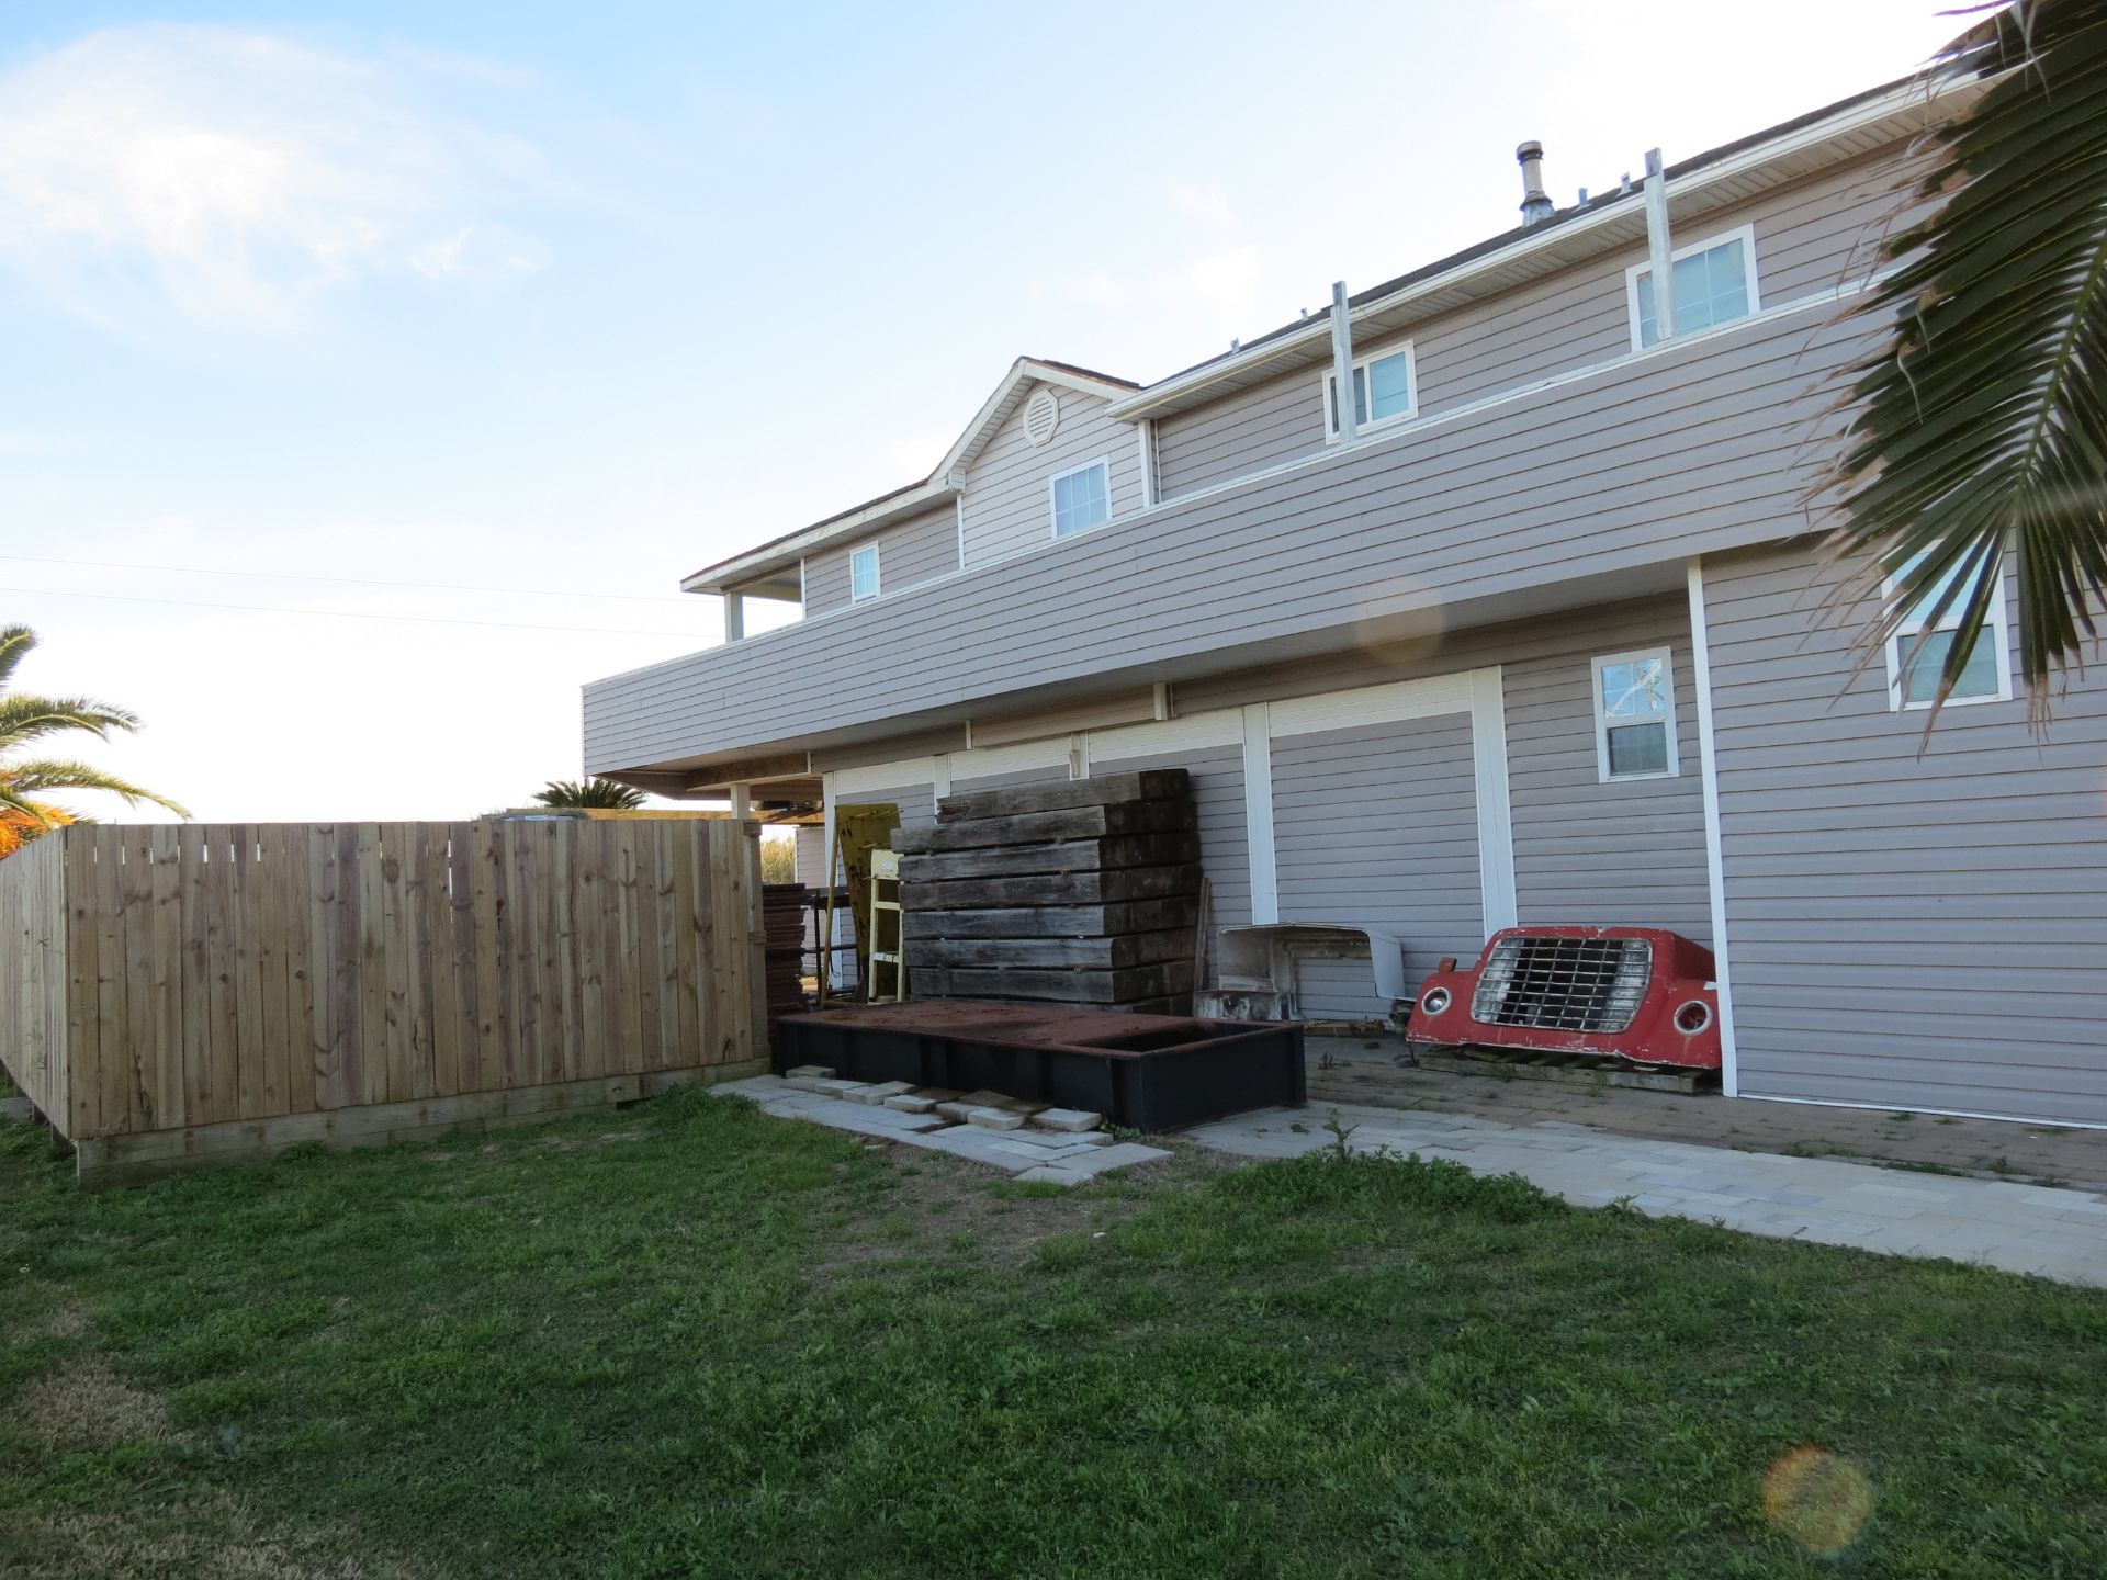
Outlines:
[[0,1062],[84,1167],[88,1142],[166,1154],[112,1138],[402,1133],[765,1055],[744,822],[76,826],[0,862]]

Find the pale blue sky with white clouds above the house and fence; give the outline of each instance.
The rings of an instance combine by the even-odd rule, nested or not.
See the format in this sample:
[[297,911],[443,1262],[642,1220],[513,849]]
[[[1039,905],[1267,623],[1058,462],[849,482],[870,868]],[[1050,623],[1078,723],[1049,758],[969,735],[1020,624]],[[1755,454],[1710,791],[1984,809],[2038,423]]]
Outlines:
[[921,476],[1016,354],[1159,377],[1511,225],[1523,137],[1570,202],[1953,29],[4,6],[0,615],[200,815],[516,805],[577,771],[584,680],[716,640],[681,573]]

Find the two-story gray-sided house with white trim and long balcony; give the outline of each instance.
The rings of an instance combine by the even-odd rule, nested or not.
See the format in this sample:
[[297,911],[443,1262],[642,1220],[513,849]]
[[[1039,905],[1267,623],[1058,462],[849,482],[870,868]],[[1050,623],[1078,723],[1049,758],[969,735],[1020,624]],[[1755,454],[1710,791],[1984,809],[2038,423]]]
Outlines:
[[1877,343],[1844,308],[1966,93],[1532,192],[1155,383],[1022,358],[927,478],[689,577],[733,638],[746,598],[803,619],[590,685],[586,767],[919,822],[1178,765],[1218,925],[1382,927],[1414,973],[1671,927],[1717,954],[1728,1093],[2107,1125],[2107,687],[2031,735],[2000,611],[1926,735],[1943,634],[1867,655],[1806,506]]

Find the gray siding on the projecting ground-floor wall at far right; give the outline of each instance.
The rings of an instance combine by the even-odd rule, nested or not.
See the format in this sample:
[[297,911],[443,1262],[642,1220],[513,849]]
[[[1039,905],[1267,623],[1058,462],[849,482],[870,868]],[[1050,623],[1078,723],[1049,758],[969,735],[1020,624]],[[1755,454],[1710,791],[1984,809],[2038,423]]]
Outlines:
[[1705,562],[1740,1089],[2107,1123],[2107,687],[1926,739],[1833,575]]

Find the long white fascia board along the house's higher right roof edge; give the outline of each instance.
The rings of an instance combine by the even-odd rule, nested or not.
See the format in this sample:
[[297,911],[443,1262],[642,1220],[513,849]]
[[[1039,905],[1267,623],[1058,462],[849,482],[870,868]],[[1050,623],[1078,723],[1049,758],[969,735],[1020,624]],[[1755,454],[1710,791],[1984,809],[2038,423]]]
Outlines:
[[[1690,171],[1677,177],[1669,185],[1669,200],[1688,202],[1692,196],[1700,196],[1707,187],[1721,181],[1734,181],[1749,175],[1749,171],[1761,169],[1791,154],[1818,147],[1820,143],[1833,141],[1837,137],[1848,137],[1867,126],[1875,126],[1882,120],[1898,116],[1907,110],[1928,112],[1936,99],[1966,93],[1974,84],[1953,82],[1936,88],[1928,88],[1922,82],[1905,82],[1877,99],[1867,99],[1865,103],[1850,105],[1837,112],[1829,120],[1818,120],[1812,126],[1801,126],[1799,131],[1787,133],[1785,137],[1774,137],[1764,143],[1740,150],[1738,154],[1728,154],[1726,158],[1713,160],[1700,171]],[[1414,301],[1431,297],[1435,293],[1454,291],[1458,284],[1466,284],[1479,274],[1490,274],[1492,270],[1504,270],[1517,259],[1532,257],[1536,253],[1547,253],[1555,246],[1570,244],[1574,240],[1593,236],[1603,225],[1612,225],[1646,211],[1646,187],[1633,185],[1631,192],[1616,202],[1606,202],[1593,213],[1568,219],[1559,225],[1549,225],[1540,232],[1523,232],[1509,246],[1494,253],[1473,257],[1469,263],[1458,263],[1454,270],[1443,270],[1441,274],[1429,276],[1424,280],[1414,280],[1412,284],[1393,291],[1386,297],[1374,301],[1363,301],[1353,308],[1348,322],[1363,322],[1372,316],[1391,316],[1399,310],[1410,308]],[[1393,324],[1395,329],[1395,324]],[[1161,407],[1197,394],[1224,377],[1249,373],[1262,369],[1268,362],[1294,356],[1308,350],[1311,345],[1327,345],[1332,341],[1332,324],[1323,316],[1311,318],[1306,324],[1296,324],[1287,333],[1252,345],[1243,352],[1218,358],[1214,362],[1203,362],[1190,373],[1178,373],[1161,383],[1150,383],[1144,390],[1136,390],[1123,400],[1115,400],[1108,409],[1108,417],[1119,417],[1121,421],[1138,421],[1142,417],[1155,415]]]

